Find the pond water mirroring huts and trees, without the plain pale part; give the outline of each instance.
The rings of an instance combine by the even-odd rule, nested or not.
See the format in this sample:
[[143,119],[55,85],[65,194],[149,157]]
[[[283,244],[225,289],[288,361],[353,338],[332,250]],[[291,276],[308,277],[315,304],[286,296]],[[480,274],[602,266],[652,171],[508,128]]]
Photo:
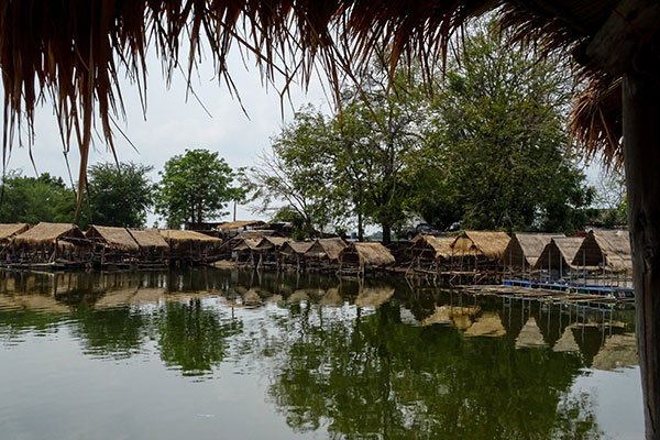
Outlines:
[[[0,341],[66,328],[84,356],[154,354],[211,381],[266,377],[298,433],[598,438],[585,369],[637,364],[631,311],[481,298],[399,280],[195,270],[8,274]],[[228,420],[231,422],[231,420]]]

